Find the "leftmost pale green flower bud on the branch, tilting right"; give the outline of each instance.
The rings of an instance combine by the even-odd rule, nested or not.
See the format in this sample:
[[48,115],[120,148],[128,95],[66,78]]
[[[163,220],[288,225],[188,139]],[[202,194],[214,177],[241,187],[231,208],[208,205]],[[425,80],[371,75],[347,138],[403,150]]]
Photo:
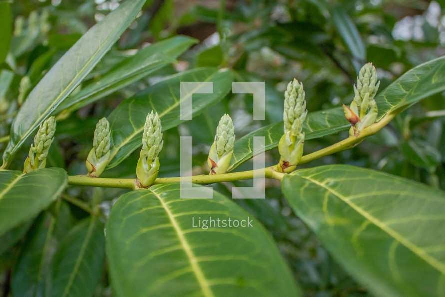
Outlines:
[[40,128],[34,137],[34,143],[29,150],[28,157],[24,162],[23,171],[25,173],[45,168],[46,157],[49,148],[54,141],[55,126],[55,117],[49,117],[40,125]]

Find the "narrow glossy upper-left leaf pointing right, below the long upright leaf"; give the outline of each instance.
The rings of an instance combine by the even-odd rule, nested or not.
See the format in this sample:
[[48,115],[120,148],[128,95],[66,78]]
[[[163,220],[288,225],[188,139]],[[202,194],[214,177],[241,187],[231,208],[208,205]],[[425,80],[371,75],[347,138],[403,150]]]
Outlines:
[[59,106],[57,112],[71,106],[71,110],[79,109],[138,81],[162,66],[174,62],[180,54],[196,42],[194,38],[175,36],[139,50],[134,56],[126,58],[113,67],[99,80],[92,82],[74,96],[68,97]]

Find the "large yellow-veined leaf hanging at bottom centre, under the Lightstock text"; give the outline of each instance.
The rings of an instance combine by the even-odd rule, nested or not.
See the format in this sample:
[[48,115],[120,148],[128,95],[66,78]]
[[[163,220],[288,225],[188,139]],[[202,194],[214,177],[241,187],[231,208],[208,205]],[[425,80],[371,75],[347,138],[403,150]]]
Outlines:
[[[299,295],[272,238],[249,213],[217,192],[179,197],[178,183],[156,185],[124,194],[111,209],[106,255],[115,296]],[[209,217],[220,226],[251,219],[252,227],[193,227]]]

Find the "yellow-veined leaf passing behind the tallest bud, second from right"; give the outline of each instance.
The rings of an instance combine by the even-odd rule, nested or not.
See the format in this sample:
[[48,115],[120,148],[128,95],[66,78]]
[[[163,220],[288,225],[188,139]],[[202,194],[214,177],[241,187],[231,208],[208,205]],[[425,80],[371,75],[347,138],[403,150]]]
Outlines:
[[[332,108],[308,113],[303,124],[303,132],[306,133],[306,140],[349,130],[349,128],[350,124],[344,117],[342,108]],[[265,136],[265,150],[268,151],[278,147],[278,142],[283,133],[284,123],[281,121],[260,128],[238,139],[235,142],[228,171],[234,170],[253,157],[254,136]]]

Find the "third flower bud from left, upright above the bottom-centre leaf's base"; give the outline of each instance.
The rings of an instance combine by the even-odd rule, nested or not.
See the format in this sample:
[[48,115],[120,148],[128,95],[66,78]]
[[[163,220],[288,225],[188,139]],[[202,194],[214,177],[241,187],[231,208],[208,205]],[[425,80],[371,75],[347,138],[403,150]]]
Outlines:
[[159,152],[164,144],[162,140],[162,125],[159,115],[151,111],[145,120],[142,135],[142,150],[137,162],[136,175],[139,185],[146,188],[153,184],[159,173]]

